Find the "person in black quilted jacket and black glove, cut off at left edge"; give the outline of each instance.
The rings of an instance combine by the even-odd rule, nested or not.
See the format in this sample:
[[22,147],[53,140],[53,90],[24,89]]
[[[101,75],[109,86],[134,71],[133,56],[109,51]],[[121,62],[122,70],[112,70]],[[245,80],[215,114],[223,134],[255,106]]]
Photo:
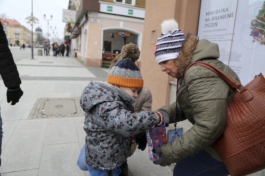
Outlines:
[[[7,87],[7,103],[11,102],[11,105],[15,105],[20,97],[23,95],[23,91],[20,88],[21,80],[16,68],[12,53],[8,47],[7,36],[4,31],[3,25],[0,21],[0,75]],[[1,110],[1,108],[0,108]],[[2,118],[0,113],[0,156],[2,150]],[[1,166],[1,158],[0,158]]]

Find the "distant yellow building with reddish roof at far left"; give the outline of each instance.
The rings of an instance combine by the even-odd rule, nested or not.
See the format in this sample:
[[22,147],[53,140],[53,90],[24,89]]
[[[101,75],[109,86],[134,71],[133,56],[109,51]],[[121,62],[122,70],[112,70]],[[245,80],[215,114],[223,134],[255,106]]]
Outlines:
[[1,23],[7,35],[8,44],[19,45],[31,43],[31,31],[17,20],[1,18]]

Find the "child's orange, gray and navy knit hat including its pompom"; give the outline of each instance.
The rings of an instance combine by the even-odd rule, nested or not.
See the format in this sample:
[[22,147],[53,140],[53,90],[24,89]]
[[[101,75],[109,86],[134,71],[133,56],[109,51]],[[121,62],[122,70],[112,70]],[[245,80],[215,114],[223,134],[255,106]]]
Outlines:
[[139,56],[140,50],[136,44],[124,45],[121,49],[122,59],[109,70],[107,82],[117,86],[142,88],[142,75],[135,65]]

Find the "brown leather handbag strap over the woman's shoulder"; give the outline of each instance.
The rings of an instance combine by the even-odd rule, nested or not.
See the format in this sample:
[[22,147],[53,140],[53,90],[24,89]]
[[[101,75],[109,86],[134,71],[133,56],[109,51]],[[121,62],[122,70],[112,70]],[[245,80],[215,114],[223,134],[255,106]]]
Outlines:
[[[186,75],[187,70],[194,65],[201,65],[205,68],[208,68],[209,70],[212,70],[219,77],[221,77],[228,84],[228,86],[237,90],[246,101],[250,101],[251,99],[253,99],[252,93],[248,89],[246,89],[239,81],[235,80],[234,78],[230,77],[229,75],[224,73],[219,68],[217,68],[217,67],[215,67],[212,64],[209,64],[207,62],[199,62],[198,61],[198,62],[193,62],[192,64],[190,64],[185,70],[184,79],[185,79],[185,75]],[[239,90],[240,86],[242,86],[242,88]]]

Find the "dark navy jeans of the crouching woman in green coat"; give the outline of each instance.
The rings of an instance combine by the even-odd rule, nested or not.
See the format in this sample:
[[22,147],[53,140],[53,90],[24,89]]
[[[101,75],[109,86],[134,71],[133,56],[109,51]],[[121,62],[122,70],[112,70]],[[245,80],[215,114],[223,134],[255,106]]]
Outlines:
[[227,176],[224,163],[214,159],[205,150],[176,163],[173,176]]

